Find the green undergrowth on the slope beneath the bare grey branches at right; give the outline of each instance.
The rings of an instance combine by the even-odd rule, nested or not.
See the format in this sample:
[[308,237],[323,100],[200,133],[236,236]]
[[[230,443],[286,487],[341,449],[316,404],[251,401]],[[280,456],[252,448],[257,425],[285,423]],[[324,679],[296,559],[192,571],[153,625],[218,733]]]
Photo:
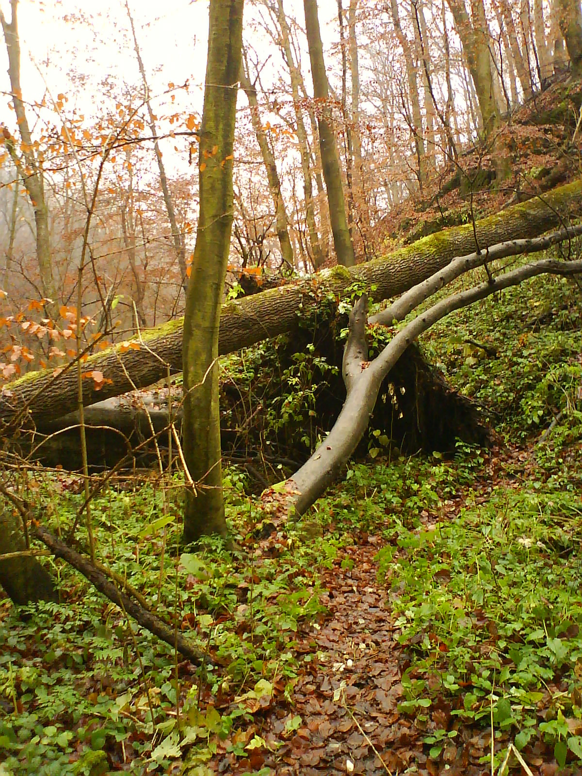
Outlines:
[[[553,251],[546,255],[555,258]],[[469,279],[483,282],[483,269]],[[459,279],[454,289],[468,286],[469,279]],[[582,427],[581,293],[571,279],[539,275],[489,296],[424,334],[428,360],[487,407],[494,426],[510,438],[525,440],[567,415],[570,435],[564,441],[572,441]]]

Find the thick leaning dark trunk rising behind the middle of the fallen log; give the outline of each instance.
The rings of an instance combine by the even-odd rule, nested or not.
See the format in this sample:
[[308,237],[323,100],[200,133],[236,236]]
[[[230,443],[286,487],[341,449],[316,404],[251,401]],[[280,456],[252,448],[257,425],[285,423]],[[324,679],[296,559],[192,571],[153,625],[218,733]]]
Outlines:
[[307,45],[311,62],[311,76],[314,81],[314,98],[320,102],[320,115],[317,120],[320,137],[321,163],[324,168],[327,200],[331,220],[331,232],[334,235],[335,255],[338,264],[345,267],[355,265],[354,247],[348,230],[345,215],[344,190],[341,185],[341,170],[338,147],[331,126],[331,112],[327,74],[325,73],[324,50],[321,44],[319,19],[317,18],[317,0],[303,0]]

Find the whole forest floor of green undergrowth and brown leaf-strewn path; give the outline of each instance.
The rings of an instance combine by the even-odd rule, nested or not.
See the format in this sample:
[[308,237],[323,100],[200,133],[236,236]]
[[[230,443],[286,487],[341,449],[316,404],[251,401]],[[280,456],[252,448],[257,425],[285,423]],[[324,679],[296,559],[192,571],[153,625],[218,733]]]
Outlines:
[[[235,549],[178,548],[178,476],[111,480],[99,559],[213,665],[47,559],[60,604],[0,602],[0,774],[581,773],[581,315],[576,283],[537,278],[438,324],[424,353],[494,446],[402,456],[371,431],[286,525],[232,466]],[[66,536],[78,477],[27,487]]]

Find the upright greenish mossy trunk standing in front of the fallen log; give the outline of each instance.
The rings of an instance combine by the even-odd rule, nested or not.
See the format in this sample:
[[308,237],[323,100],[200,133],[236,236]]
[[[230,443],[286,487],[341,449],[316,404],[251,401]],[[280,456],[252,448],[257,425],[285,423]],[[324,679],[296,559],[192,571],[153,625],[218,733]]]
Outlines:
[[183,334],[184,457],[195,484],[185,492],[185,542],[224,534],[218,330],[233,220],[233,147],[241,73],[243,0],[210,0],[200,127],[200,205]]

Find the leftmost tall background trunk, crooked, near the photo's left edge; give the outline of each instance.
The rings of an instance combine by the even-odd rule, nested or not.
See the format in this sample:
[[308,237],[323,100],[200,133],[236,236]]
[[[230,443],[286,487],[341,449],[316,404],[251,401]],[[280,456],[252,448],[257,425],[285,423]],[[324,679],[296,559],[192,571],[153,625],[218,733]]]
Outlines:
[[17,149],[15,140],[6,127],[4,127],[3,134],[6,148],[19,176],[23,179],[26,193],[33,206],[36,225],[36,259],[40,270],[40,285],[43,289],[43,296],[51,300],[45,304],[47,312],[50,317],[56,319],[59,307],[57,304],[57,289],[54,285],[52,256],[50,254],[49,212],[47,200],[44,196],[43,170],[40,160],[34,154],[35,146],[30,134],[29,123],[24,109],[23,92],[20,87],[20,40],[16,16],[17,6],[18,0],[10,0],[12,18],[10,22],[7,22],[2,10],[0,10],[0,23],[2,23],[6,51],[8,53],[12,105],[14,106],[16,121],[22,139],[20,149]]

